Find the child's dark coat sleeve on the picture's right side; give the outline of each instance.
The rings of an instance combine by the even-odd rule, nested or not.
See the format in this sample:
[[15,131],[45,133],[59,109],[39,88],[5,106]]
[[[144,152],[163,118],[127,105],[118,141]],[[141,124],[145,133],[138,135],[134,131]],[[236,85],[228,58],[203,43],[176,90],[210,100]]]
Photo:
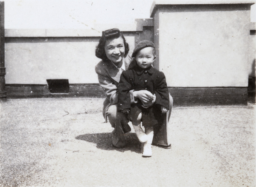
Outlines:
[[157,76],[157,88],[155,94],[155,104],[165,106],[167,109],[169,109],[169,90],[163,72],[159,72],[159,75]]

